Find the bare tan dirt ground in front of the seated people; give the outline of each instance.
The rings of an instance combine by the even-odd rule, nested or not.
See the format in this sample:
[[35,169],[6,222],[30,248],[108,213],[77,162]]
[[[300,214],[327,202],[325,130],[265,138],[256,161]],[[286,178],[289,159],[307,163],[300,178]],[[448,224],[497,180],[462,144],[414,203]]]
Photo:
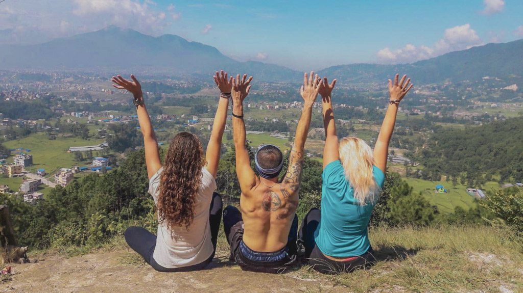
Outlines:
[[244,272],[227,261],[214,260],[211,269],[188,273],[159,273],[132,265],[126,250],[96,252],[73,258],[41,255],[36,263],[13,264],[12,280],[0,292],[347,292],[325,279],[303,279],[298,272],[283,275]]

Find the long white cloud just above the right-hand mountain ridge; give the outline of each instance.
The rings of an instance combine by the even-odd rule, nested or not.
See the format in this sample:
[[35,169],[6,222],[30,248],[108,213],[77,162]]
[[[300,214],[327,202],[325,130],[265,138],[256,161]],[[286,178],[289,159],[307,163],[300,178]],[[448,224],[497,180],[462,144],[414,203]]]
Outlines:
[[407,44],[397,50],[386,47],[378,51],[377,56],[383,63],[411,63],[481,44],[480,37],[467,23],[463,26],[446,29],[443,38],[437,41],[433,47],[412,44]]

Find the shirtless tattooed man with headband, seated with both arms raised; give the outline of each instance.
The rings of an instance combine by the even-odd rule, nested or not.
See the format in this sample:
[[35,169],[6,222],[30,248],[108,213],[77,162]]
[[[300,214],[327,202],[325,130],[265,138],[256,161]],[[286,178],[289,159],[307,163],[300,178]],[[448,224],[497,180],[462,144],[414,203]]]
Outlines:
[[243,100],[251,89],[252,77],[233,80],[233,132],[236,173],[242,194],[241,212],[228,206],[223,212],[225,235],[231,245],[231,260],[243,270],[281,273],[297,260],[298,193],[301,183],[305,140],[311,124],[312,106],[321,80],[314,72],[303,78],[300,90],[303,112],[296,129],[289,168],[279,182],[283,155],[274,145],[264,145],[256,153],[256,176],[245,148]]

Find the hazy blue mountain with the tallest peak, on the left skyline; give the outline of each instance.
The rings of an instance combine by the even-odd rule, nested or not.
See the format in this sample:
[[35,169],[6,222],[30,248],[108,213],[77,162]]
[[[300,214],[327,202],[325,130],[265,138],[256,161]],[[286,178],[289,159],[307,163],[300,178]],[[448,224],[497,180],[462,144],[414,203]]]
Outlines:
[[217,69],[257,72],[276,80],[297,74],[260,62],[238,62],[217,48],[166,34],[157,38],[131,29],[108,27],[37,45],[0,45],[1,69],[76,70],[147,74],[212,75]]

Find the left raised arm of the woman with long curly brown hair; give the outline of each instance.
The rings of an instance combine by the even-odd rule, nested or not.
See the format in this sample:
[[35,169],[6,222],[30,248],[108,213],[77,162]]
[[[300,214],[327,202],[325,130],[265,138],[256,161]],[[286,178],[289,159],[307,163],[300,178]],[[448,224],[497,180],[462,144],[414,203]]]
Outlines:
[[147,176],[149,179],[160,170],[162,162],[160,161],[160,152],[158,151],[158,141],[151,124],[151,118],[145,103],[143,101],[142,86],[138,79],[131,75],[131,80],[122,78],[121,76],[112,77],[112,86],[123,90],[126,89],[131,92],[134,96],[134,104],[136,105],[136,111],[138,113],[138,122],[140,123],[140,129],[143,135],[143,145],[145,147],[145,164],[147,165]]

